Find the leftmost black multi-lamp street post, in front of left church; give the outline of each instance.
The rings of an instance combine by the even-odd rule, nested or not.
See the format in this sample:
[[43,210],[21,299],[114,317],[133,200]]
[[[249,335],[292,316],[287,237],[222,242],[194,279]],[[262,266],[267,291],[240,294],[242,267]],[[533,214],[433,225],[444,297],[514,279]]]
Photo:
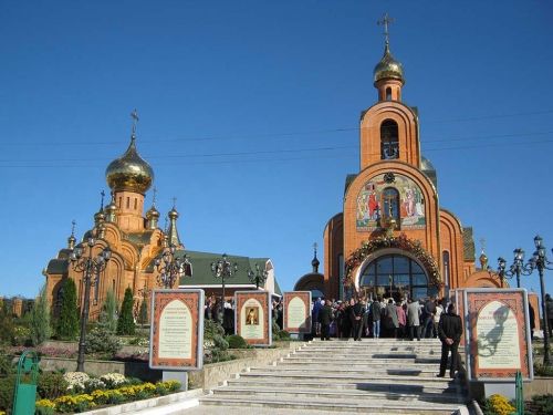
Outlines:
[[88,238],[86,241],[88,247],[88,255],[83,257],[83,246],[79,245],[70,253],[70,260],[73,269],[77,272],[83,272],[84,283],[84,303],[81,312],[81,335],[79,339],[79,355],[76,359],[77,372],[84,372],[84,350],[86,345],[86,323],[88,321],[88,312],[91,308],[91,287],[100,282],[100,273],[105,270],[107,261],[112,257],[109,247],[105,247],[96,256],[92,256],[94,247],[102,247],[103,245],[96,243],[94,238]]

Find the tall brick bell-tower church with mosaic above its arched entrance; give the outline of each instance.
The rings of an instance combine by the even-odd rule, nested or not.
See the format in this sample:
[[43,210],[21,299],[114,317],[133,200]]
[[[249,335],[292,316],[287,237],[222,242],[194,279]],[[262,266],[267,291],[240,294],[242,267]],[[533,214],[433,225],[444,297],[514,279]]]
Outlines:
[[417,108],[403,102],[404,70],[387,38],[374,70],[377,101],[359,120],[359,172],[346,177],[343,211],[324,229],[324,274],[305,274],[295,289],[335,299],[419,299],[499,287],[483,252],[476,267],[472,228],[438,204],[436,170],[420,152]]

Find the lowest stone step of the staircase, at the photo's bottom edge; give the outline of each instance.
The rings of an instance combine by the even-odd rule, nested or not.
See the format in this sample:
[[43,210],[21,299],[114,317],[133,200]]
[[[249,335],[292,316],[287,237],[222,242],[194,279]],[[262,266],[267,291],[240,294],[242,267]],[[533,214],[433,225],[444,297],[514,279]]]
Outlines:
[[411,414],[411,415],[422,415],[422,414],[451,414],[458,411],[461,406],[457,404],[429,404],[426,402],[414,403],[414,402],[388,402],[388,401],[348,401],[344,402],[342,400],[319,400],[313,401],[281,401],[267,400],[267,398],[253,398],[253,397],[218,397],[218,396],[207,396],[200,400],[201,405],[225,405],[225,406],[249,406],[249,407],[271,407],[281,408],[284,411],[289,408],[293,409],[319,409],[319,411],[330,411],[330,412],[342,412],[342,413],[390,413],[390,414]]

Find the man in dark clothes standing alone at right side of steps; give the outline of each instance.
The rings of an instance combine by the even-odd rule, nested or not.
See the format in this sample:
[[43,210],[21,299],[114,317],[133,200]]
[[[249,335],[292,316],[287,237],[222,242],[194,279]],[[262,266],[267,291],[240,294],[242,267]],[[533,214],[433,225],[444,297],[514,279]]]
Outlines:
[[449,377],[455,377],[455,371],[458,366],[458,349],[459,342],[462,335],[462,322],[461,318],[455,312],[455,304],[448,305],[447,314],[441,314],[440,322],[438,324],[438,335],[441,340],[441,361],[440,361],[440,373],[438,377],[444,377],[446,375],[446,366],[448,363],[448,354],[451,352],[451,362],[449,366]]

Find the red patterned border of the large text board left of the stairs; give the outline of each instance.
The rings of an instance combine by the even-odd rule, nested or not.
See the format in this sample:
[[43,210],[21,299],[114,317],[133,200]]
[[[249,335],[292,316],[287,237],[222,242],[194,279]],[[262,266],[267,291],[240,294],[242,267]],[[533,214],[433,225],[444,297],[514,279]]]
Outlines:
[[[153,336],[150,350],[150,366],[167,367],[197,367],[198,366],[198,309],[200,292],[156,292],[153,299]],[[185,303],[192,317],[192,356],[190,359],[160,359],[159,353],[159,319],[161,312],[171,301],[178,300]]]

